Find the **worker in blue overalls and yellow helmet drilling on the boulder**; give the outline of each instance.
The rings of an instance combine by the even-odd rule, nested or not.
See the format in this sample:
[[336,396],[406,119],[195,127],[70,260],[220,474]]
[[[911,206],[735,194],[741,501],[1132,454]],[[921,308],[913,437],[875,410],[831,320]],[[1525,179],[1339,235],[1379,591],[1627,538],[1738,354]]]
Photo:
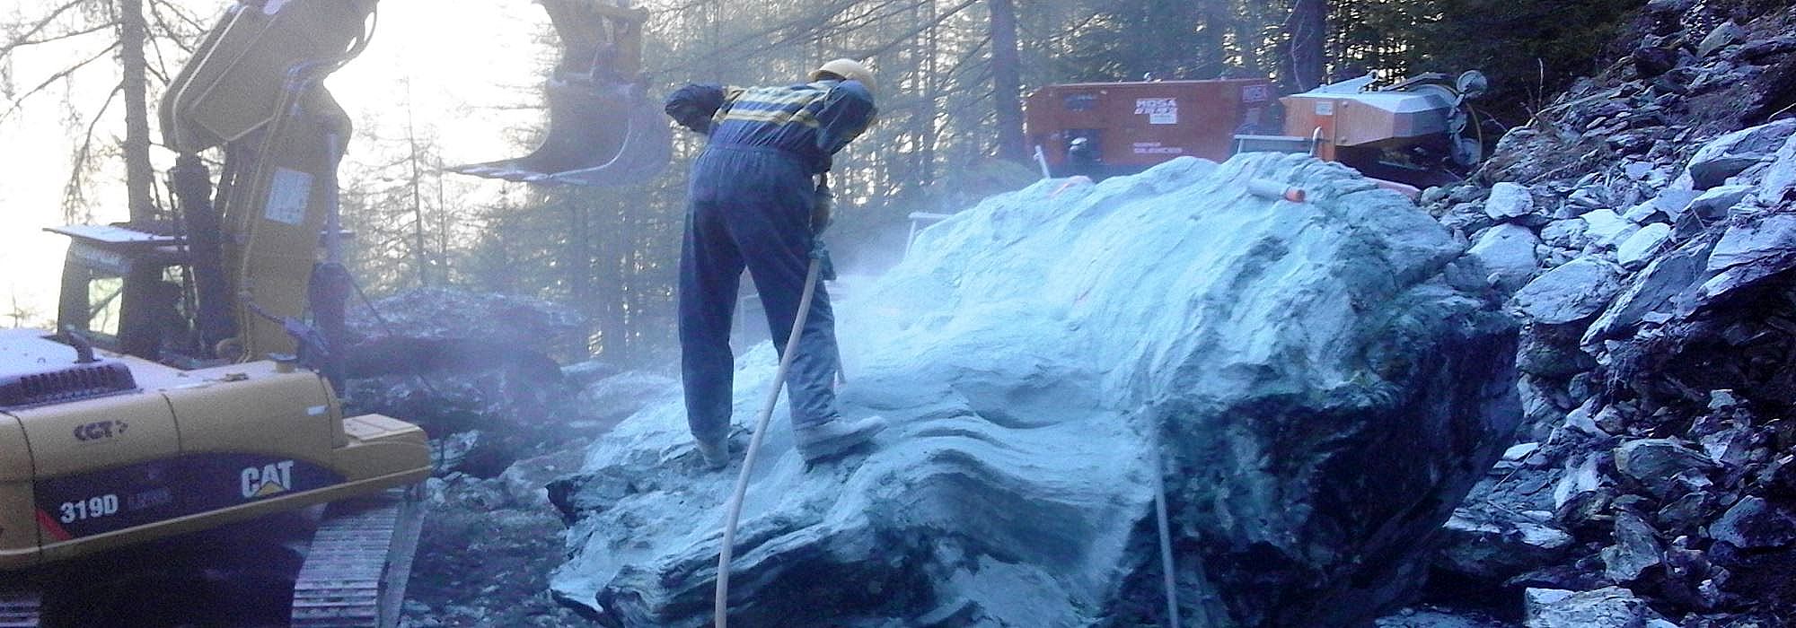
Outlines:
[[[709,135],[691,165],[681,249],[679,339],[686,423],[711,468],[729,465],[729,319],[747,267],[767,309],[774,348],[787,336],[805,292],[817,235],[830,222],[823,181],[832,158],[873,122],[873,72],[835,59],[792,86],[688,84],[666,102],[681,126]],[[837,362],[830,294],[817,282],[797,355],[787,375],[792,432],[806,461],[866,443],[885,422],[844,420],[832,388]]]

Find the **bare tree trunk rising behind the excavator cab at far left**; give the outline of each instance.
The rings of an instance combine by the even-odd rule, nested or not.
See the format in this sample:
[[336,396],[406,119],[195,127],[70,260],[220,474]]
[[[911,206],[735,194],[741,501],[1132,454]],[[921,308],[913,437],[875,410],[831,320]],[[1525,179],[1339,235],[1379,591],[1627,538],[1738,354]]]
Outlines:
[[154,179],[149,167],[149,79],[144,61],[144,2],[119,0],[119,65],[124,70],[124,181],[131,222],[156,219]]

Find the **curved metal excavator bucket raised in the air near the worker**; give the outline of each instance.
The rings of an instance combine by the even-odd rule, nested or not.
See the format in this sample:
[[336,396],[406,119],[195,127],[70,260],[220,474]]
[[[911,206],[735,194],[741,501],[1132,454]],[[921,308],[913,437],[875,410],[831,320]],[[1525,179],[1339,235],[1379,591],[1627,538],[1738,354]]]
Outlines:
[[674,131],[641,79],[647,11],[603,0],[541,0],[562,43],[548,83],[550,126],[526,156],[453,172],[548,185],[648,181],[674,154]]

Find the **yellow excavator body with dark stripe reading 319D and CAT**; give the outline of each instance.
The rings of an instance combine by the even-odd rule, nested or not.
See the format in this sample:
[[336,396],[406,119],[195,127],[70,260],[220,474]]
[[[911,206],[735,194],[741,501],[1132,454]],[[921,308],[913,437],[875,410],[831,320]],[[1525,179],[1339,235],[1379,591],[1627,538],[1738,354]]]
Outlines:
[[0,332],[0,569],[418,483],[417,425],[255,361],[178,370]]

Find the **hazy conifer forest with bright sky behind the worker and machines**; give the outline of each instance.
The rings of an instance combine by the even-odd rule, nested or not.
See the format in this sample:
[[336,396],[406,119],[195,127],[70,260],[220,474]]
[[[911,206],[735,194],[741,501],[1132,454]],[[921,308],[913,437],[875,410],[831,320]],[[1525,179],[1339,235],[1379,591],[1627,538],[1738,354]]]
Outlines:
[[[56,145],[5,153],[56,163],[66,222],[124,221],[169,206],[172,154],[154,102],[199,36],[232,2],[25,0],[0,9],[0,126],[54,120]],[[1642,0],[639,0],[650,92],[684,83],[792,83],[832,57],[878,74],[878,124],[837,158],[839,222],[828,240],[844,273],[898,260],[912,212],[952,214],[1034,178],[1020,97],[1088,81],[1272,77],[1282,93],[1374,72],[1482,70],[1478,102],[1496,129],[1525,124],[1548,95],[1606,65]],[[530,41],[456,32],[530,14]],[[401,20],[395,20],[399,14]],[[460,14],[460,20],[454,16]],[[352,275],[374,296],[415,287],[539,296],[587,316],[566,357],[620,364],[665,359],[686,161],[700,138],[677,136],[657,179],[623,188],[537,188],[444,172],[471,135],[483,149],[526,153],[541,135],[541,83],[557,48],[541,11],[510,4],[383,2],[383,29],[427,32],[460,48],[524,47],[514,97],[417,117],[409,86],[329,83],[361,113],[339,170],[343,215],[357,233]],[[454,72],[460,48],[411,57]],[[50,54],[45,54],[50,50]],[[478,52],[469,52],[478,54]],[[354,72],[350,68],[339,74]],[[392,83],[388,79],[388,83]],[[365,93],[357,93],[365,92]],[[375,93],[379,92],[379,93]],[[395,97],[399,93],[401,97]],[[426,95],[427,97],[427,95]],[[357,102],[365,100],[365,102]],[[366,111],[377,111],[366,113]],[[25,122],[32,120],[32,122]],[[501,122],[494,122],[501,120]],[[472,124],[501,127],[469,129]],[[1494,142],[1494,136],[1489,138]],[[497,158],[501,154],[490,154]],[[0,205],[13,203],[5,185]],[[4,210],[0,215],[31,215]],[[0,222],[7,231],[48,224]],[[0,255],[5,255],[0,251]],[[7,257],[7,273],[50,273],[57,258]],[[7,303],[0,303],[5,307]],[[54,309],[13,296],[14,327]],[[753,321],[751,321],[753,323]]]

